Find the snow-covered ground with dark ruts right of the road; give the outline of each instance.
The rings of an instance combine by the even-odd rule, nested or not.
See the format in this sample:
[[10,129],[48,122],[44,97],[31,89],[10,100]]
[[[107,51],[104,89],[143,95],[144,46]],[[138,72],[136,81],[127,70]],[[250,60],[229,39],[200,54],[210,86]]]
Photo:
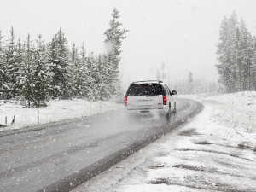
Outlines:
[[73,191],[256,191],[256,92],[194,99],[189,124]]

